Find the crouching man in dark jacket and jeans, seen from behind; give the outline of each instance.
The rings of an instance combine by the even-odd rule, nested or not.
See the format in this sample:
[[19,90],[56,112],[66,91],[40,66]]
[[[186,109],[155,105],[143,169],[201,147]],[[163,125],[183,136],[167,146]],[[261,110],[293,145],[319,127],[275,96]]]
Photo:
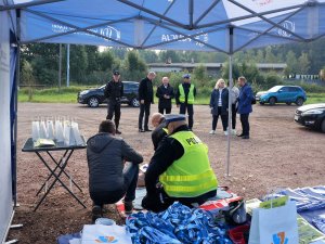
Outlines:
[[139,164],[143,162],[143,157],[123,139],[115,137],[115,131],[114,123],[104,120],[99,133],[87,142],[93,221],[102,216],[104,204],[117,203],[123,196],[126,214],[133,209]]

